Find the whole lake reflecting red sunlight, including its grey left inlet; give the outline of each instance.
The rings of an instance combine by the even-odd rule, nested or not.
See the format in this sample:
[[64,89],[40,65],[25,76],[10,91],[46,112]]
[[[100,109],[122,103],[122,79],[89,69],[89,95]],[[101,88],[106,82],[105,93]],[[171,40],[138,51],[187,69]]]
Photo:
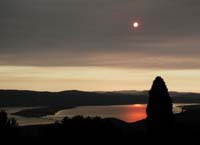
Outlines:
[[[181,105],[192,104],[175,104],[173,108],[174,113],[182,111]],[[194,105],[194,104],[193,104]],[[73,117],[77,115],[82,116],[99,116],[102,118],[117,118],[125,122],[136,122],[146,118],[146,104],[133,104],[133,105],[110,105],[110,106],[82,106],[71,109],[60,110],[55,115],[48,115],[40,118],[26,118],[15,115],[10,115],[27,108],[1,108],[9,113],[10,117],[17,119],[19,125],[32,125],[32,124],[49,124],[55,121],[62,120],[65,116]],[[0,110],[1,110],[0,109]]]

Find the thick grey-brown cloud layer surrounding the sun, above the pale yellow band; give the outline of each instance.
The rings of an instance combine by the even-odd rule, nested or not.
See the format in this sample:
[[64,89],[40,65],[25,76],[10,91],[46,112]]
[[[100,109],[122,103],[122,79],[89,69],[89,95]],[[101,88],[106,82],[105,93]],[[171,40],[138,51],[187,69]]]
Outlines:
[[[1,0],[0,64],[200,68],[199,6],[198,0]],[[140,30],[130,29],[133,19],[141,20]]]

